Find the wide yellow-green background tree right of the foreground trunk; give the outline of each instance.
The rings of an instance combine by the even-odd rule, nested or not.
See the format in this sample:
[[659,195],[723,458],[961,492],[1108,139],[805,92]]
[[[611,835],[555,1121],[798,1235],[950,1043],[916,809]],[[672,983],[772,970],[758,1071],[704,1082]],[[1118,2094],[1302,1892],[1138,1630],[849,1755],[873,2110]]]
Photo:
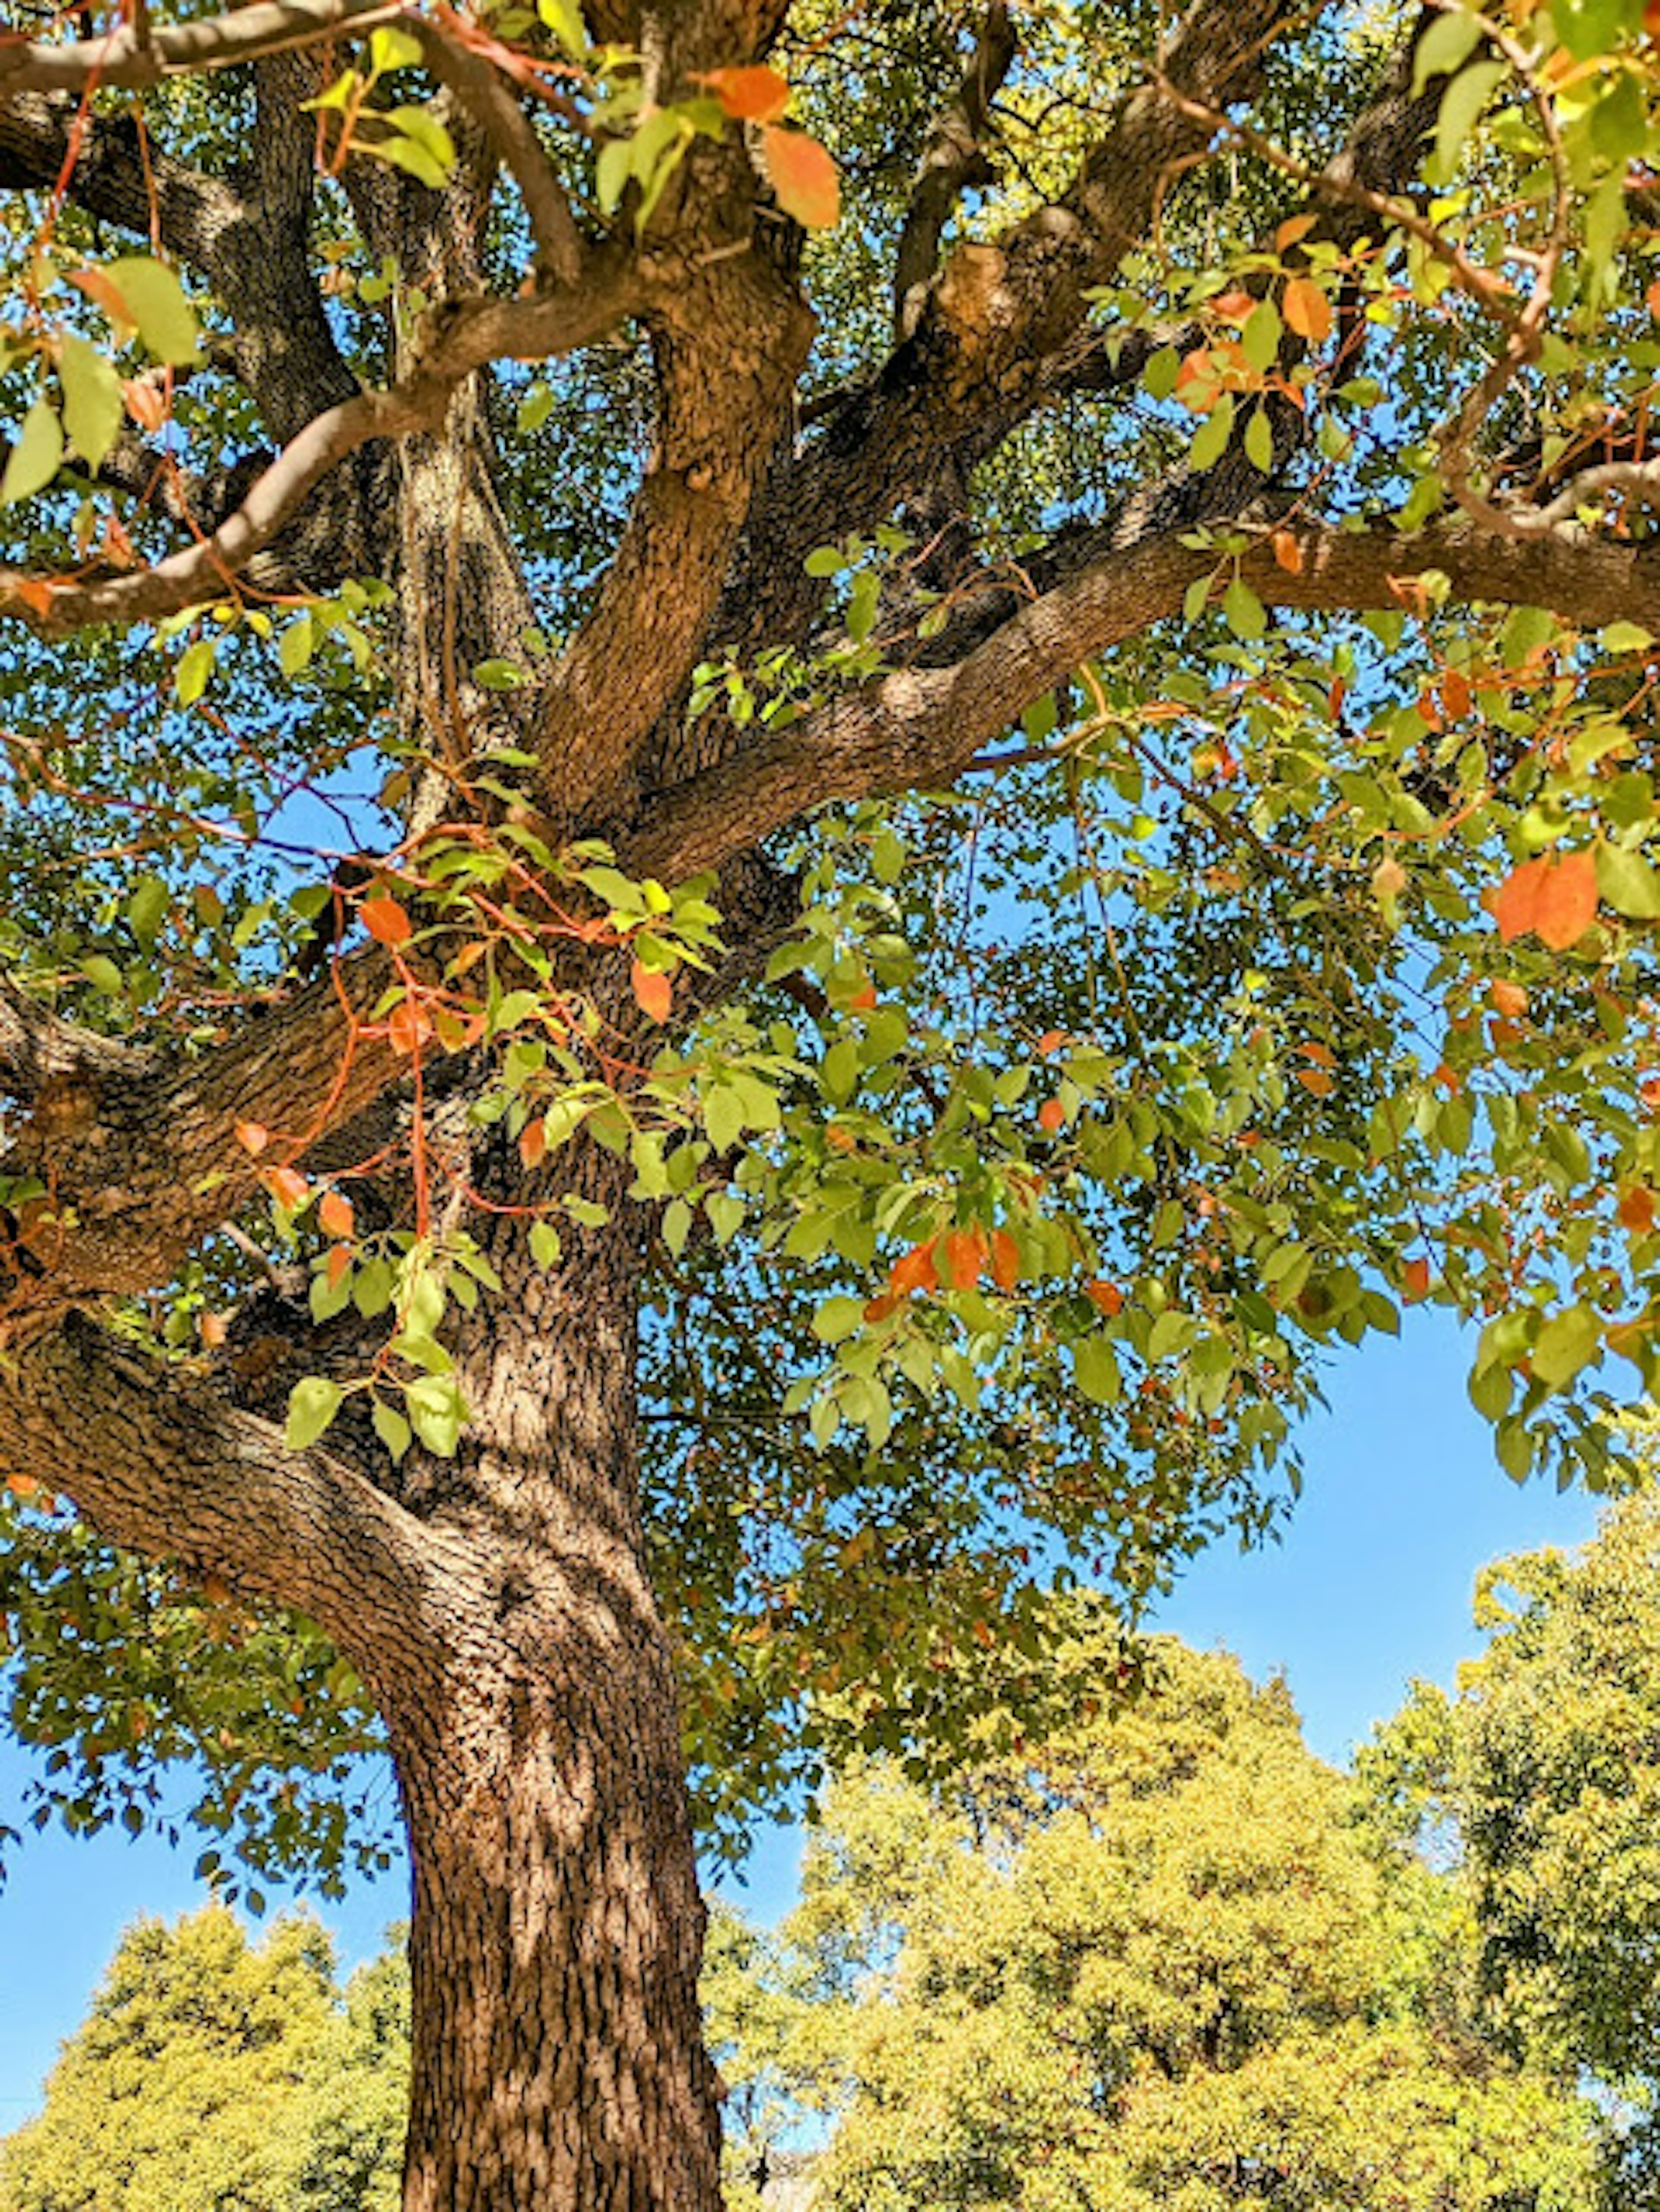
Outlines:
[[1368,1840],[1284,1686],[1158,1661],[1042,1754],[834,1787],[777,1960],[715,2015],[834,2117],[815,2201],[1585,2203],[1589,2108],[1476,2033],[1456,1882]]

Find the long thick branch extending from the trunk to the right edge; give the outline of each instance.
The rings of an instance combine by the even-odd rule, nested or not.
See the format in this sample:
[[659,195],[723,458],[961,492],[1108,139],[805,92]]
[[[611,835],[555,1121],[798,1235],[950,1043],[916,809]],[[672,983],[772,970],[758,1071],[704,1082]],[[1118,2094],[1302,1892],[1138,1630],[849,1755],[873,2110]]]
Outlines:
[[[1660,546],[1594,540],[1516,544],[1472,529],[1295,533],[1301,571],[1266,546],[1242,573],[1270,606],[1341,613],[1412,604],[1414,580],[1441,573],[1465,602],[1549,606],[1580,628],[1640,622],[1660,635]],[[741,759],[662,792],[622,863],[675,883],[719,867],[832,799],[943,790],[974,754],[1082,661],[1175,615],[1215,553],[1160,535],[1058,582],[952,668],[881,677]]]

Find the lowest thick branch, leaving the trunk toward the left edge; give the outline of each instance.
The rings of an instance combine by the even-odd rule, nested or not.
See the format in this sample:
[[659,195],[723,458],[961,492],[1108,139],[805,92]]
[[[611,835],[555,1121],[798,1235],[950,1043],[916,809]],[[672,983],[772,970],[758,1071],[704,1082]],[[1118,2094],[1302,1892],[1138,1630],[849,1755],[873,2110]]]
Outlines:
[[64,1491],[100,1535],[310,1615],[370,1679],[421,1637],[432,1537],[336,1453],[71,1314],[0,1360],[7,1473]]

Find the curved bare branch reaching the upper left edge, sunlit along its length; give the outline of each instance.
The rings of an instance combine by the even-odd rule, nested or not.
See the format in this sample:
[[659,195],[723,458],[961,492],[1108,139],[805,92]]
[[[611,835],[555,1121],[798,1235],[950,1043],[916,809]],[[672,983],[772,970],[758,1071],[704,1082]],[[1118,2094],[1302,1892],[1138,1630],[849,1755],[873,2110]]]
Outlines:
[[390,392],[359,394],[308,422],[210,538],[137,575],[91,584],[0,568],[0,615],[22,617],[42,637],[66,637],[93,622],[155,622],[217,597],[347,453],[376,438],[436,427],[456,387],[487,361],[571,352],[631,312],[637,283],[624,257],[595,257],[591,276],[571,294],[447,303],[432,319],[414,376]]

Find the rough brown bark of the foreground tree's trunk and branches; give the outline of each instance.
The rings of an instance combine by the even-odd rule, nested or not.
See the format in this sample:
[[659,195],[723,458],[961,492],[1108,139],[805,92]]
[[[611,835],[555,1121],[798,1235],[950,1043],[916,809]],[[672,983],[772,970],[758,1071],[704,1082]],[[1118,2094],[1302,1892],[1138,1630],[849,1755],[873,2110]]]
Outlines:
[[[1107,524],[1031,562],[1036,597],[954,577],[958,611],[912,666],[766,732],[677,701],[713,639],[801,644],[826,586],[803,553],[868,531],[952,487],[1031,411],[1111,389],[1087,292],[1147,234],[1164,186],[1215,133],[1195,108],[1253,91],[1286,0],[1242,11],[1195,0],[1162,77],[1102,124],[1073,186],[1005,232],[945,248],[956,195],[987,175],[978,144],[1014,62],[1009,11],[989,9],[961,86],[941,86],[894,283],[892,352],[792,425],[812,314],[799,237],[768,201],[741,133],[699,139],[644,239],[580,221],[507,77],[445,53],[460,168],[445,192],[356,164],[356,221],[432,307],[394,349],[385,392],[341,358],[308,261],[312,124],[323,40],[396,15],[370,0],[283,0],[217,22],[122,31],[84,46],[0,44],[0,184],[71,199],[146,232],[210,288],[235,332],[235,372],[272,453],[188,484],[197,535],[151,571],[40,580],[0,571],[0,617],[44,637],[155,619],[232,588],[255,557],[288,584],[372,571],[401,608],[398,719],[447,776],[483,737],[540,759],[556,830],[606,836],[620,865],[662,880],[724,869],[730,960],[768,945],[761,841],[834,796],[941,785],[1087,655],[1173,613],[1211,555],[1195,520],[1246,511],[1259,478],[1160,484]],[[655,97],[697,71],[761,60],[777,0],[591,4],[602,38],[640,46]],[[1016,18],[1018,27],[1018,18]],[[436,40],[436,44],[434,44]],[[332,55],[328,66],[336,66]],[[142,146],[131,117],[75,102],[162,75],[255,66],[248,173],[193,170]],[[958,64],[961,66],[961,64]],[[1434,95],[1397,71],[1332,173],[1370,192],[1412,175]],[[502,102],[507,104],[502,111]],[[485,283],[498,164],[525,195],[538,276]],[[598,591],[547,677],[507,699],[469,670],[518,657],[536,591],[496,495],[485,380],[509,354],[549,356],[637,316],[653,352],[655,449]],[[1138,358],[1129,349],[1131,369]],[[188,504],[188,502],[186,502]],[[956,518],[961,522],[961,518]],[[1428,568],[1470,597],[1545,602],[1585,622],[1642,617],[1660,633],[1656,557],[1569,535],[1525,546],[1470,524],[1412,542],[1295,524],[1299,564],[1262,546],[1244,571],[1264,599],[1390,606]],[[972,546],[963,533],[963,546]],[[443,781],[443,779],[440,779]],[[443,783],[436,803],[447,803]],[[294,1137],[301,1166],[352,1152],[365,1115],[407,1110],[407,1073],[367,1009],[387,969],[356,951],[281,1006],[228,1024],[195,1060],[80,1035],[0,989],[0,1084],[18,1102],[0,1172],[38,1175],[44,1223],[9,1239],[0,1422],[9,1464],[69,1493],[111,1540],[232,1577],[292,1604],[354,1659],[387,1721],[414,1854],[416,2079],[405,2212],[713,2212],[717,2106],[697,2031],[697,1902],[671,1652],[644,1564],[633,1413],[635,1305],[651,1214],[622,1197],[604,1230],[573,1232],[553,1272],[529,1263],[513,1206],[531,1186],[476,1139],[474,1181],[505,1212],[485,1245],[505,1283],[454,1345],[474,1409],[452,1462],[403,1467],[350,1433],[283,1451],[270,1405],[237,1402],[224,1371],[164,1371],[93,1318],[111,1294],[164,1283],[257,1194],[239,1121]],[[615,975],[595,971],[615,993]],[[467,1071],[458,1071],[465,1095]],[[367,1150],[367,1146],[359,1146]],[[582,1175],[606,1175],[587,1157]],[[321,1354],[294,1345],[305,1371]]]

